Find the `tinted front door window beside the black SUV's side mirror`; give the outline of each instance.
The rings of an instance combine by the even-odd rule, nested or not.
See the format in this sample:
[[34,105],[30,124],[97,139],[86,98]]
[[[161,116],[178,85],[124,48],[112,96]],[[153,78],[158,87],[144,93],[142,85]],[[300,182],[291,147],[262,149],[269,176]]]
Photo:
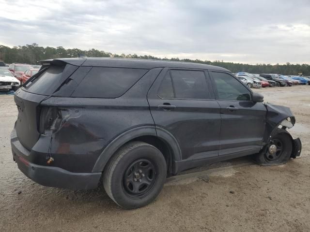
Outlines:
[[217,99],[228,101],[250,101],[250,91],[227,73],[212,73]]

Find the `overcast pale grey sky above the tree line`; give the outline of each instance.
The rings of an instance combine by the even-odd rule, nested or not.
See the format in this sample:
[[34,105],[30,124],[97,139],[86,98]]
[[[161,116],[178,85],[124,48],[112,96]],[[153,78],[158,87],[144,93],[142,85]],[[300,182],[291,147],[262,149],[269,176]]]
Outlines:
[[310,0],[0,0],[0,44],[310,64]]

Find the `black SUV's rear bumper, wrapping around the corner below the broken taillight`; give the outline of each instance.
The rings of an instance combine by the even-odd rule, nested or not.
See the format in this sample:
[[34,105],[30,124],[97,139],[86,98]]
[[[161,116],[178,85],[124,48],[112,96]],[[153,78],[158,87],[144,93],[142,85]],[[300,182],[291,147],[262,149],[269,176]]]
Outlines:
[[72,173],[59,167],[29,162],[27,156],[29,156],[30,151],[21,145],[15,136],[15,131],[12,131],[13,159],[16,161],[18,169],[31,180],[43,186],[57,188],[93,189],[98,187],[101,173]]

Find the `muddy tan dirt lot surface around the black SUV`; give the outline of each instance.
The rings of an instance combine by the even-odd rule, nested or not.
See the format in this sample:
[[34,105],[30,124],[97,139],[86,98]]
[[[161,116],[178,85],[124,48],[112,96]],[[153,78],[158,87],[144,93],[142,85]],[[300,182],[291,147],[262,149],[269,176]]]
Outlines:
[[[260,167],[249,158],[187,171],[167,180],[154,203],[124,210],[102,187],[40,186],[12,160],[14,96],[0,96],[0,232],[11,231],[310,231],[310,86],[264,88],[265,102],[291,107],[300,158]],[[195,171],[195,172],[194,172]]]

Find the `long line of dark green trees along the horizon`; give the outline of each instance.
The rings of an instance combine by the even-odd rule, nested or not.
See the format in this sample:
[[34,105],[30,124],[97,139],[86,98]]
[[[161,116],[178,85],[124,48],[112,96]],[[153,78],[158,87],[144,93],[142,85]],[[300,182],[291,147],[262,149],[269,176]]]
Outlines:
[[84,54],[87,57],[116,57],[116,58],[140,58],[140,59],[159,59],[171,61],[184,61],[202,64],[216,65],[226,68],[233,73],[248,72],[248,73],[279,73],[284,75],[310,75],[309,64],[242,64],[233,62],[222,62],[220,60],[200,60],[200,59],[179,59],[179,58],[158,58],[154,56],[139,56],[137,54],[112,54],[97,49],[80,50],[78,48],[65,49],[63,47],[41,47],[37,43],[26,44],[24,46],[15,46],[13,48],[0,45],[0,60],[5,63],[29,63],[37,64],[37,61],[52,58],[75,58],[78,54]]

